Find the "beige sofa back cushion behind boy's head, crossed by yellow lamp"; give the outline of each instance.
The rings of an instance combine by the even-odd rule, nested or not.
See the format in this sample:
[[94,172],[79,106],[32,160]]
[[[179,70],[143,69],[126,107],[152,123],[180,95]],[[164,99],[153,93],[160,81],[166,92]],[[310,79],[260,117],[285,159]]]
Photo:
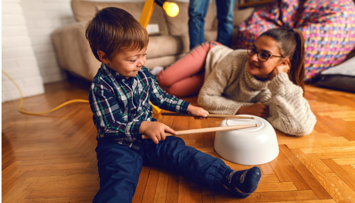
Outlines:
[[[145,2],[94,2],[85,0],[72,0],[72,10],[75,19],[78,22],[91,20],[95,13],[103,8],[117,7],[130,13],[136,20],[139,21],[141,12],[143,11]],[[165,11],[155,5],[149,23],[158,24],[159,30],[163,35],[168,35],[167,25],[165,21]]]

